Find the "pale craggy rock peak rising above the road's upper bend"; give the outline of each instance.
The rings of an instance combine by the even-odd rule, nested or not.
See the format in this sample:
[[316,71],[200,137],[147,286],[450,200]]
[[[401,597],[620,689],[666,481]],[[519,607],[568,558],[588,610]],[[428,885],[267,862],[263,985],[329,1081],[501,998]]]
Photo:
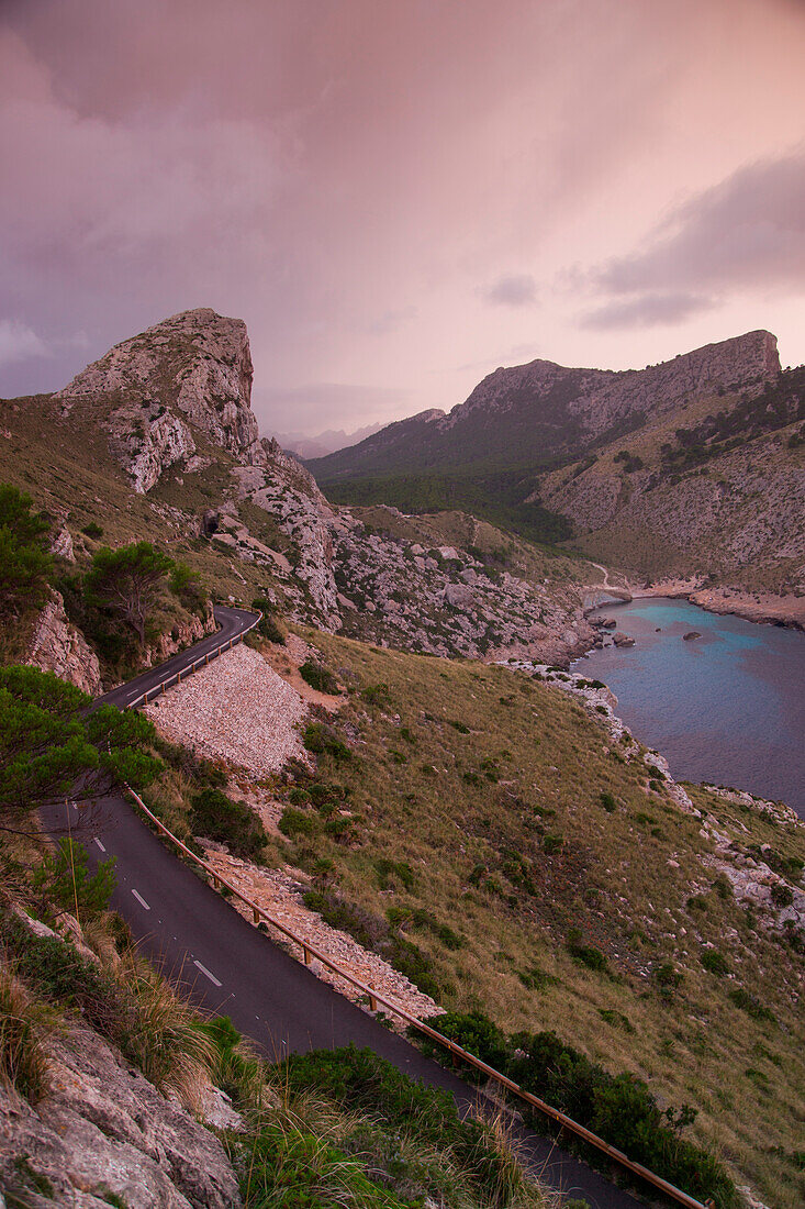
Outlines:
[[198,307],[115,345],[56,398],[65,413],[97,410],[112,455],[145,492],[168,465],[196,456],[199,436],[263,462],[253,372],[245,323]]

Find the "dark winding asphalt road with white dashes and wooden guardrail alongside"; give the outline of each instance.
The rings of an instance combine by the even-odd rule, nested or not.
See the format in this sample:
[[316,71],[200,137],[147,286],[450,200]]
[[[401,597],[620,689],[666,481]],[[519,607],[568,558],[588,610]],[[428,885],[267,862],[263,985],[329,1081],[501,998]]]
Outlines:
[[[98,700],[126,708],[199,655],[238,637],[254,621],[251,613],[221,607],[215,618],[220,626],[216,634]],[[54,823],[81,829],[81,811],[75,804],[65,804],[60,811],[60,818],[51,816]],[[406,1075],[445,1088],[462,1112],[477,1105],[476,1089],[338,995],[247,922],[168,851],[122,796],[102,799],[92,816],[92,829],[82,839],[93,861],[116,857],[112,906],[143,950],[174,983],[183,984],[199,1007],[230,1016],[272,1060],[289,1052],[354,1042],[369,1046]],[[514,1129],[523,1157],[548,1185],[567,1196],[584,1197],[593,1209],[637,1209],[642,1203],[544,1138],[521,1126]]]

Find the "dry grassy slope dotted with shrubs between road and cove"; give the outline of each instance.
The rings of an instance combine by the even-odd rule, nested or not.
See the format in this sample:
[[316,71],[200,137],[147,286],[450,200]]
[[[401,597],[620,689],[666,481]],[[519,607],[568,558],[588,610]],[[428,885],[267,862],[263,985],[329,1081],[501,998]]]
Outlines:
[[[608,1069],[645,1078],[662,1101],[693,1104],[695,1136],[770,1203],[794,1209],[803,1176],[774,1147],[790,1156],[798,1145],[797,958],[752,931],[735,901],[713,889],[700,823],[665,792],[647,789],[642,763],[621,763],[606,733],[556,690],[505,669],[311,638],[346,682],[387,684],[388,694],[386,705],[354,694],[341,715],[359,765],[320,757],[324,776],[352,787],[359,841],[318,831],[296,843],[291,860],[308,869],[332,861],[325,893],[373,915],[428,910],[463,937],[451,949],[432,927],[407,933],[427,954],[445,1006],[481,1008],[506,1029],[555,1029]],[[615,798],[613,814],[602,792]],[[699,796],[729,826],[735,808]],[[745,844],[740,823],[758,843],[771,835],[780,851],[804,855],[801,832],[741,818],[734,831]],[[552,855],[546,835],[562,839]],[[411,867],[411,889],[383,874],[389,860]],[[703,907],[687,907],[693,895]],[[574,927],[606,954],[608,973],[571,958]],[[702,968],[706,944],[723,951],[734,978]],[[665,961],[684,973],[671,999],[651,976]],[[739,985],[777,1023],[734,1006],[728,991]]]

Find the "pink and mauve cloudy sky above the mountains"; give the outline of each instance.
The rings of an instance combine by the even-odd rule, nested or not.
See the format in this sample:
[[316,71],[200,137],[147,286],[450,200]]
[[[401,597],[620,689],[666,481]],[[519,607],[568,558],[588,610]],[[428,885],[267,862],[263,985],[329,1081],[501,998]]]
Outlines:
[[5,0],[0,395],[196,306],[263,430],[754,328],[805,360],[800,0]]

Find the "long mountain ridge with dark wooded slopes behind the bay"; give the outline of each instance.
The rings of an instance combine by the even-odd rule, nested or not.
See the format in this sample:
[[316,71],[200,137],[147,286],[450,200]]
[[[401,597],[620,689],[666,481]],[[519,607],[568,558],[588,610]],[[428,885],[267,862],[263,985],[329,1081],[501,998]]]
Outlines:
[[308,468],[330,499],[464,508],[649,577],[805,591],[805,369],[752,331],[644,370],[497,369]]

